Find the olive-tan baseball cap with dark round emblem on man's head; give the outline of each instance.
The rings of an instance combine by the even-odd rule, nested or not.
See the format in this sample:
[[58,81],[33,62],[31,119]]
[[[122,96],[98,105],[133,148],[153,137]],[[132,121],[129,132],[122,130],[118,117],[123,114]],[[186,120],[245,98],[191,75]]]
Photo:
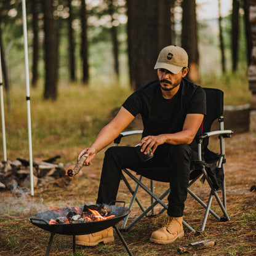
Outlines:
[[179,46],[167,46],[161,50],[154,69],[164,68],[177,74],[182,68],[188,66],[188,54]]

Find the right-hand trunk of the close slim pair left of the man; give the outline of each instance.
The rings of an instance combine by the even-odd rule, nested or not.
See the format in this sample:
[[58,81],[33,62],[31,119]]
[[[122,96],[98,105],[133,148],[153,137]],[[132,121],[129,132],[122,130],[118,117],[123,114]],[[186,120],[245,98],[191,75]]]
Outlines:
[[81,33],[82,82],[85,85],[87,85],[89,81],[89,64],[88,64],[86,0],[81,1],[81,26],[82,26],[82,33]]

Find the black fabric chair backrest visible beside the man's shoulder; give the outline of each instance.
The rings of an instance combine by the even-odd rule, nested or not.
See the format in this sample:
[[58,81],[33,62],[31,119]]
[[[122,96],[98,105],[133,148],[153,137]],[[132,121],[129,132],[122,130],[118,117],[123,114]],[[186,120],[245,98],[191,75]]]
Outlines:
[[223,92],[219,89],[204,88],[206,92],[206,116],[204,117],[202,133],[209,132],[212,123],[223,115]]

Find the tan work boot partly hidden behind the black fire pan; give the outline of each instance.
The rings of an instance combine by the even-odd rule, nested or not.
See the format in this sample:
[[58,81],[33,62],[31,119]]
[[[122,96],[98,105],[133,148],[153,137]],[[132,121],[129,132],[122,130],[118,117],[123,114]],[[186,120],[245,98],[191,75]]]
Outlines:
[[107,242],[114,241],[113,228],[106,228],[106,230],[102,230],[92,234],[81,234],[80,236],[76,236],[76,244],[78,246],[97,246],[99,242],[103,242],[106,244]]

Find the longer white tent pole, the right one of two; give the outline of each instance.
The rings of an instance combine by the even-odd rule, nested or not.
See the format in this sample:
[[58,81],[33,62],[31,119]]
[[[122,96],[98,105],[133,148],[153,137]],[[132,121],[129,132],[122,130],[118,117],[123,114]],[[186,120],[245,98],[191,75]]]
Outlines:
[[28,144],[30,150],[30,187],[31,196],[34,196],[34,175],[33,175],[33,156],[32,156],[32,135],[31,135],[31,113],[30,113],[30,76],[28,68],[28,36],[26,29],[26,2],[22,0],[23,14],[23,35],[24,35],[24,52],[25,52],[25,70],[26,70],[26,105],[28,111]]

